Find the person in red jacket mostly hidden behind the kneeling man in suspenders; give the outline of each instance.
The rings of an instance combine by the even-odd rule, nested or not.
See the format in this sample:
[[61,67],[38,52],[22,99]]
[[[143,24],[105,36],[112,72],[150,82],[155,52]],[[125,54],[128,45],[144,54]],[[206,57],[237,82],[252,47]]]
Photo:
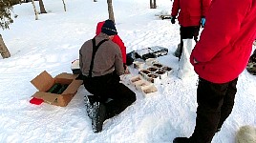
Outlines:
[[[105,23],[105,21],[101,21],[101,22],[97,23],[97,25],[96,25],[96,35],[98,35],[101,32],[101,28],[102,28],[104,23]],[[126,55],[126,47],[124,46],[124,43],[122,42],[121,38],[118,35],[114,35],[114,38],[112,39],[112,41],[114,43],[116,43],[118,45],[118,47],[120,48],[120,50],[121,50],[123,66],[124,66],[124,69],[127,72],[127,70],[128,70],[127,66],[130,66],[133,61],[131,61],[132,59],[131,59],[130,56]]]

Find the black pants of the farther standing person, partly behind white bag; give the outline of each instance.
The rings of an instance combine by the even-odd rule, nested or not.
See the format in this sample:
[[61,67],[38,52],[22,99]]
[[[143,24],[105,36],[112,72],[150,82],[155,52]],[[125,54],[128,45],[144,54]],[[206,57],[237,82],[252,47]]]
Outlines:
[[183,49],[183,39],[193,39],[198,42],[198,35],[199,35],[200,27],[194,26],[194,27],[182,27],[180,28],[180,34],[181,34],[181,49],[180,49],[180,55],[179,59],[181,59],[181,53]]

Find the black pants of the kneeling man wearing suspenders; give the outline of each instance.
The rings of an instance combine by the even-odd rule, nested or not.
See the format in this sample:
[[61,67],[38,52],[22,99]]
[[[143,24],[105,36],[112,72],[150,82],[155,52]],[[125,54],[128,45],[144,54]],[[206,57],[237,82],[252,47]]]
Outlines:
[[[84,78],[84,87],[96,96],[96,100],[106,106],[106,119],[123,112],[136,101],[136,93],[119,83],[119,76],[108,74],[100,77]],[[109,98],[112,100],[106,102]]]

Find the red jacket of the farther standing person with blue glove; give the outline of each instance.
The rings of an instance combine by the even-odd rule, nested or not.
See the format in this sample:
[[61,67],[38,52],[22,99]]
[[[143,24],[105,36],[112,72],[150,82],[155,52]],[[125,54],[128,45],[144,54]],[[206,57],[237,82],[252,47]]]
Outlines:
[[200,26],[210,3],[211,0],[174,0],[171,15],[176,17],[179,13],[178,20],[182,27]]

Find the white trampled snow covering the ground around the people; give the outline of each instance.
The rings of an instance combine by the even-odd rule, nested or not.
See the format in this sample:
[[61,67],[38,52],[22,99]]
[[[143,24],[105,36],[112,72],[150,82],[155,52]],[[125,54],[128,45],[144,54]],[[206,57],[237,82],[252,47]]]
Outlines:
[[[15,6],[13,12],[18,17],[10,30],[1,31],[11,57],[0,57],[0,142],[162,143],[193,133],[198,77],[177,77],[179,61],[173,52],[180,43],[180,27],[155,16],[170,13],[171,1],[157,1],[156,10],[149,9],[148,0],[113,1],[118,35],[127,52],[168,48],[168,54],[158,60],[174,72],[157,85],[157,93],[143,96],[129,86],[137,101],[105,121],[101,133],[92,131],[83,101],[88,92],[83,86],[67,107],[36,106],[29,101],[37,91],[30,82],[37,74],[72,72],[71,62],[78,58],[81,45],[95,36],[96,23],[108,18],[107,3],[66,0],[66,12],[60,0],[44,0],[44,4],[48,13],[40,14],[39,20],[34,20],[31,3]],[[213,143],[232,143],[239,127],[256,125],[255,81],[246,71],[240,75],[233,112]]]

